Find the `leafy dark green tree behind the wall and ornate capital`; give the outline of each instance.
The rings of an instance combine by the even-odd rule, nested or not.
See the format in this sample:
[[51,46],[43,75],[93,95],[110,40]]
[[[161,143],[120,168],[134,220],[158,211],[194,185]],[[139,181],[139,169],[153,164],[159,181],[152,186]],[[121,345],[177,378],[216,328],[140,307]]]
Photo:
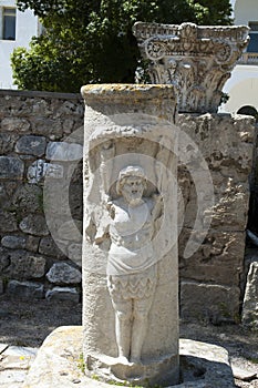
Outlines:
[[229,0],[18,0],[44,33],[11,61],[19,89],[78,92],[85,83],[134,82],[135,21],[230,24]]

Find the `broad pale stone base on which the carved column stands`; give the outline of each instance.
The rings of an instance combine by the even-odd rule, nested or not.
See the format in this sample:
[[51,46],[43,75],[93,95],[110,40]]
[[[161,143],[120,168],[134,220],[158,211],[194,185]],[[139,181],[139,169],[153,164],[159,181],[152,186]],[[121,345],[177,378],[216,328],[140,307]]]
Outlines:
[[[81,326],[59,327],[52,331],[39,349],[23,388],[51,387],[52,381],[55,388],[117,387],[116,384],[91,379],[82,372],[82,335]],[[179,354],[185,379],[183,384],[169,386],[171,388],[235,387],[228,354],[223,347],[180,339]]]

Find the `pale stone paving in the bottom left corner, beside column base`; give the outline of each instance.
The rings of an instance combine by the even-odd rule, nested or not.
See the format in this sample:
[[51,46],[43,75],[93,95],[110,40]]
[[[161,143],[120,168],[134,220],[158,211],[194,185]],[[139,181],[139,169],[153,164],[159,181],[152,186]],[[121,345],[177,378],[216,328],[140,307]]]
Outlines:
[[21,388],[38,349],[0,344],[0,387]]

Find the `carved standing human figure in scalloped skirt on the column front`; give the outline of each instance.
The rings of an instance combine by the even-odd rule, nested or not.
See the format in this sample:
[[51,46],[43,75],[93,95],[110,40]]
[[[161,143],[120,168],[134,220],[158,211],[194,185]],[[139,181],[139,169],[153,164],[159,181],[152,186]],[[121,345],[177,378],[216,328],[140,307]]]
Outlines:
[[153,249],[155,200],[144,197],[142,167],[127,166],[118,174],[117,200],[110,204],[111,247],[107,286],[115,310],[118,358],[141,363],[148,313],[156,286]]

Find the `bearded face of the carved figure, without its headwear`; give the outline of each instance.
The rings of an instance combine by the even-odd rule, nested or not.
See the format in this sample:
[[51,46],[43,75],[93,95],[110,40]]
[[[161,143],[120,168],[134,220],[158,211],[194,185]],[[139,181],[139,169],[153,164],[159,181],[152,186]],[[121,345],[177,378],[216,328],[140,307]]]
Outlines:
[[144,182],[138,176],[126,177],[123,186],[121,187],[121,193],[125,201],[131,204],[137,204],[143,196]]

